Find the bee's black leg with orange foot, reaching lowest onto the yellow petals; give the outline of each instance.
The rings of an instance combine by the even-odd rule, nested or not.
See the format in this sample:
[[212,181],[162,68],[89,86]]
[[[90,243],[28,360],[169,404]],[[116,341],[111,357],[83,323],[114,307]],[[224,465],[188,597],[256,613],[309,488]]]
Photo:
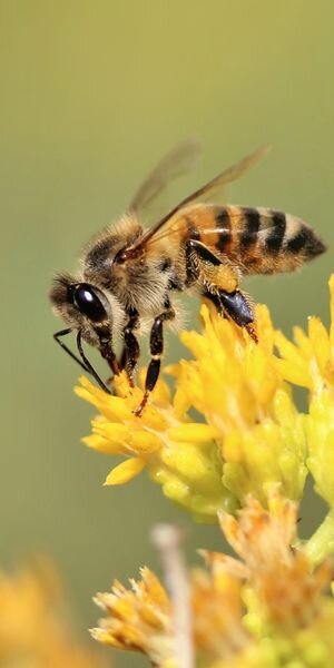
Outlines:
[[149,393],[153,392],[153,390],[155,389],[157,380],[159,377],[161,356],[164,352],[164,322],[173,320],[175,317],[175,312],[170,306],[168,297],[165,302],[165,306],[166,311],[157,317],[155,317],[154,324],[151,326],[149,337],[149,352],[151,355],[151,360],[146,372],[145,392],[143,400],[139,406],[137,406],[137,409],[134,411],[137,418],[141,416],[143,411],[147,404]]

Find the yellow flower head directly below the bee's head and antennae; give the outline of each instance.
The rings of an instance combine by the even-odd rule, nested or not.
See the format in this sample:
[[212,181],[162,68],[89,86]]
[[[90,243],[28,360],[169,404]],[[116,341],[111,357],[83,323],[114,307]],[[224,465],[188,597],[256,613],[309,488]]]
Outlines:
[[116,379],[117,396],[80,380],[77,393],[92,403],[100,415],[92,421],[92,435],[84,442],[106,454],[125,455],[107,477],[105,484],[122,484],[149,470],[163,485],[166,497],[190,510],[198,519],[215,519],[219,508],[235,507],[233,494],[222,484],[222,461],[214,430],[178,416],[167,384],[159,381],[143,418],[132,413],[143,391],[129,394],[127,379]]

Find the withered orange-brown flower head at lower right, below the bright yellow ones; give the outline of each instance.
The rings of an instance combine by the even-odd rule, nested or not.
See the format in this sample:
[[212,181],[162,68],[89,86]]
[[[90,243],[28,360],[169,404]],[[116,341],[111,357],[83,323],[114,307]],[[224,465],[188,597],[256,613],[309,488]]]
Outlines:
[[[274,494],[268,510],[248,498],[239,519],[220,513],[220,525],[243,559],[262,618],[288,629],[304,627],[316,617],[321,593],[328,587],[332,566],[324,561],[315,571],[303,551],[294,546],[297,507]],[[239,567],[239,566],[238,566]]]

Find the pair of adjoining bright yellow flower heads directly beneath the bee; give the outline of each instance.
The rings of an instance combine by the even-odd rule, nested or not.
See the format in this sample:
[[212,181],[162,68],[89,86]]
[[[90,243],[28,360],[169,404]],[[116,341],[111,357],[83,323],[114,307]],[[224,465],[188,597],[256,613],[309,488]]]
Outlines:
[[166,370],[175,377],[173,395],[161,380],[141,418],[132,411],[143,391],[129,391],[124,374],[115,380],[116,396],[80,380],[76,392],[99,411],[84,442],[125,458],[106,484],[147,468],[199,520],[234,510],[250,492],[265,502],[277,483],[298,500],[306,477],[303,415],[277,371],[267,310],[257,308],[258,345],[207,305],[202,318],[200,334],[181,334],[193,360]]

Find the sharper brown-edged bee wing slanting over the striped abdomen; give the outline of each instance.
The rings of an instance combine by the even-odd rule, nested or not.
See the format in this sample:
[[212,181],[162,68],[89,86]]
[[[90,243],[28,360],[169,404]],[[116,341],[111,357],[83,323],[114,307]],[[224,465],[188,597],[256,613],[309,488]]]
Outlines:
[[223,191],[224,187],[239,178],[243,174],[248,171],[248,169],[258,163],[268,151],[268,147],[261,147],[252,154],[244,157],[242,160],[228,167],[222,174],[218,174],[215,178],[208,181],[198,190],[195,190],[191,195],[188,195],[185,199],[183,199],[177,206],[175,206],[166,216],[164,216],[156,225],[150,227],[144,236],[138,239],[138,242],[129,248],[129,254],[136,256],[140,255],[141,252],[145,250],[148,244],[154,243],[155,240],[160,239],[163,236],[168,236],[169,234],[175,234],[177,230],[177,220],[176,217],[180,217],[183,209],[186,207],[196,204],[197,202],[206,202],[209,198],[214,198],[214,196],[218,191]]

